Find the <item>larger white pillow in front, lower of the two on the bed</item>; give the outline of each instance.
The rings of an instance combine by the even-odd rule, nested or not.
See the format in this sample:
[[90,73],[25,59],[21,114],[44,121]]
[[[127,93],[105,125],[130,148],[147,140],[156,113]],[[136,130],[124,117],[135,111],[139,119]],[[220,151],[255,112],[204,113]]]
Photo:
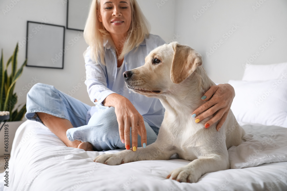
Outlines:
[[231,110],[237,121],[287,128],[287,79],[228,83],[235,90]]

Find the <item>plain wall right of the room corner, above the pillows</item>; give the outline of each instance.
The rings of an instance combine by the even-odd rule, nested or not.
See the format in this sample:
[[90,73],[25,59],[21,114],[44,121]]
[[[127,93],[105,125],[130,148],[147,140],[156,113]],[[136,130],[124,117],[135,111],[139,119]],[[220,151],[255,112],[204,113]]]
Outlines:
[[286,0],[179,0],[176,5],[179,42],[203,56],[214,82],[241,80],[248,64],[287,62]]

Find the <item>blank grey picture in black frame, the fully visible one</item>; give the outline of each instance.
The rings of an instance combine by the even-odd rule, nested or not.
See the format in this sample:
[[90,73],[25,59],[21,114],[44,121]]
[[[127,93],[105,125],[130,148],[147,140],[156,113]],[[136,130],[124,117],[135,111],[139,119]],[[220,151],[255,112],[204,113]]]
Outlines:
[[65,26],[27,21],[26,66],[64,68]]

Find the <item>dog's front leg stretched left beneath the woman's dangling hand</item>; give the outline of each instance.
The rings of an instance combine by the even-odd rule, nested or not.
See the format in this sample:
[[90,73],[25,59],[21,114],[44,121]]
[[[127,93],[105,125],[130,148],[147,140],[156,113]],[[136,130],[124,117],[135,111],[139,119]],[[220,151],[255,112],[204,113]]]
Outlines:
[[156,141],[146,148],[139,147],[137,151],[129,149],[118,153],[99,155],[94,159],[94,162],[119,165],[139,160],[168,160],[174,153],[175,151],[170,145]]

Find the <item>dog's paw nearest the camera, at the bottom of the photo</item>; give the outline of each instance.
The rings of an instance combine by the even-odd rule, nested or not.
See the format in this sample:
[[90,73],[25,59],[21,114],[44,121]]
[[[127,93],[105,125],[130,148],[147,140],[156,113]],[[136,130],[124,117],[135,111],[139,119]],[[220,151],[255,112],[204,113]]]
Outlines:
[[177,180],[178,182],[197,182],[200,178],[201,174],[196,173],[190,167],[181,167],[173,170],[170,174],[166,177],[172,180]]

